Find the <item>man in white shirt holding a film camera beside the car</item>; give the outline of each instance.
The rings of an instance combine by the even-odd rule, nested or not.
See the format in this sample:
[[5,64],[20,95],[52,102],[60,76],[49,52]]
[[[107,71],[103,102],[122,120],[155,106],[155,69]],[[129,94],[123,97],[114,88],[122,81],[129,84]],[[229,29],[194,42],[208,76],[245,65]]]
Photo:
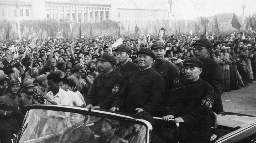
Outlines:
[[[51,73],[47,76],[48,86],[51,89],[46,94],[46,104],[70,105],[68,93],[59,87],[60,76]],[[67,112],[58,112],[47,110],[48,119],[43,129],[43,135],[59,133],[70,127],[69,114]]]

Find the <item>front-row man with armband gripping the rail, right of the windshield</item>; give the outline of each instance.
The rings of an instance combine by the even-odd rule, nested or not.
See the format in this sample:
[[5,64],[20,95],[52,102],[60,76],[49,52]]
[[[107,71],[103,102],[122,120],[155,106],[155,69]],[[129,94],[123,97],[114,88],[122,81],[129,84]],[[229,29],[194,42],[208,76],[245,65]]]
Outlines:
[[177,89],[174,105],[170,99],[170,108],[163,119],[180,123],[181,143],[207,143],[211,138],[209,112],[213,106],[214,90],[200,78],[204,64],[199,59],[190,58],[183,65],[186,81]]

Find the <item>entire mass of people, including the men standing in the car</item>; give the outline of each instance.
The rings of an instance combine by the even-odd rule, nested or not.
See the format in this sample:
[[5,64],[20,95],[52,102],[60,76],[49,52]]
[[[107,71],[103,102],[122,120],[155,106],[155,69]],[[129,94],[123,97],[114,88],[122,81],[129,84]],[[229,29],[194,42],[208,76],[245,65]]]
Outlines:
[[[29,105],[40,104],[34,91],[46,104],[201,120],[194,134],[202,140],[195,141],[208,142],[209,111],[223,112],[223,92],[255,81],[255,37],[125,35],[115,47],[115,36],[0,41],[1,140],[17,133]],[[51,117],[48,123],[56,124]]]

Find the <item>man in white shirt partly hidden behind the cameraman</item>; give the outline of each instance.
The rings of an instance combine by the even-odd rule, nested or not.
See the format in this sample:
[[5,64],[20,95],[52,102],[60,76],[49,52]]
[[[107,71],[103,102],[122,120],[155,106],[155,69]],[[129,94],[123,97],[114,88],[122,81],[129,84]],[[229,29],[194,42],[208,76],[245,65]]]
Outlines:
[[61,78],[59,86],[68,93],[70,106],[85,106],[85,103],[79,98],[75,92],[68,89],[69,80],[67,78]]

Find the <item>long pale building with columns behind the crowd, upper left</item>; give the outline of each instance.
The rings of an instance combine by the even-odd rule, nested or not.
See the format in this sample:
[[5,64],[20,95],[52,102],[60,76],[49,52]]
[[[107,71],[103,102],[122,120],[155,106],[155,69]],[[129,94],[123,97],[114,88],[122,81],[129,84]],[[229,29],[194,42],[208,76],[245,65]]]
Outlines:
[[113,20],[123,27],[169,18],[167,0],[1,0],[0,21],[56,19],[70,22]]

